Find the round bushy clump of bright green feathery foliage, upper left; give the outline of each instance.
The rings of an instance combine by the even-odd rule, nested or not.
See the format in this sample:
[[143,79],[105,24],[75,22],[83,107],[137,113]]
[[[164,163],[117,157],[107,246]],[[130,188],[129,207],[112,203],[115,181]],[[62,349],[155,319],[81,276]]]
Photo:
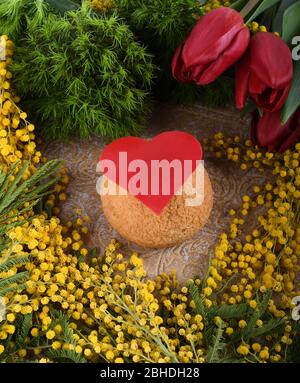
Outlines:
[[47,137],[116,138],[141,130],[154,66],[116,14],[48,14],[16,47],[14,86]]

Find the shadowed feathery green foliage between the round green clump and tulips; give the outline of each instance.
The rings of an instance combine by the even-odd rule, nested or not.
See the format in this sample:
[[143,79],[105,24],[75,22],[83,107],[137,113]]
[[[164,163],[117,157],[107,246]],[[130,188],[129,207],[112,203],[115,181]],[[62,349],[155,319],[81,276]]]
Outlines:
[[172,78],[176,48],[202,15],[199,0],[118,0],[118,11],[147,45],[160,68],[154,88],[157,98],[181,104],[200,101],[210,107],[233,102],[234,80],[221,76],[213,84],[180,84]]

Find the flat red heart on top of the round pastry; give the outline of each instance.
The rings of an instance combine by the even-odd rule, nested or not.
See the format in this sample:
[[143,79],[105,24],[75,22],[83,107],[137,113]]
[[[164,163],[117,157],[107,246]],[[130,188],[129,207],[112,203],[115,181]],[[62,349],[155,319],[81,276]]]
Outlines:
[[[124,156],[127,155],[126,161],[120,161],[120,153]],[[100,155],[100,169],[111,181],[129,192],[130,179],[137,175],[137,171],[128,169],[128,164],[135,160],[143,160],[147,164],[148,172],[143,181],[148,185],[147,194],[145,193],[131,193],[135,195],[142,203],[148,206],[156,214],[160,214],[163,208],[168,204],[170,199],[176,194],[179,188],[186,182],[189,176],[195,171],[197,161],[202,159],[202,147],[200,142],[191,134],[171,131],[164,132],[155,136],[152,140],[144,140],[138,137],[124,137],[120,138],[103,150]],[[116,174],[112,176],[107,167],[102,166],[102,161],[113,161],[116,167]],[[182,176],[179,183],[174,182],[174,171],[170,172],[169,179],[163,178],[159,174],[159,186],[157,182],[153,181],[154,176],[152,173],[153,160],[161,161],[179,160],[181,162]],[[190,161],[191,166],[184,171],[184,161]],[[139,168],[140,169],[140,168]],[[157,173],[156,173],[157,175]],[[115,178],[115,179],[114,179]],[[156,177],[157,178],[157,177]],[[177,177],[178,178],[178,177]],[[151,181],[158,187],[158,193],[151,194]],[[168,183],[168,185],[166,185]],[[140,183],[137,183],[137,185]],[[170,192],[166,195],[163,193],[163,187],[169,187]]]

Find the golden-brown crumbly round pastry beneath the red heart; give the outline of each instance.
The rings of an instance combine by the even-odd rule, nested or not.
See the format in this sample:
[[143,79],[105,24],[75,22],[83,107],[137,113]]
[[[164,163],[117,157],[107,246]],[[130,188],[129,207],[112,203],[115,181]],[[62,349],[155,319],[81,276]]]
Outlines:
[[[195,185],[195,172],[192,175]],[[108,179],[102,182],[107,186]],[[204,198],[199,206],[186,206],[184,192],[172,197],[160,215],[135,196],[103,195],[104,214],[111,226],[125,239],[146,248],[169,247],[192,238],[208,221],[213,206],[213,191],[204,169]]]

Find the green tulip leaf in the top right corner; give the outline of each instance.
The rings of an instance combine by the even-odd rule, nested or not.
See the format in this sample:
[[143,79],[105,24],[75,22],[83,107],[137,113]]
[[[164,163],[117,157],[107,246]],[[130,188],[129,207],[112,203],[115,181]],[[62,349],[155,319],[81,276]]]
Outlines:
[[300,34],[300,1],[291,5],[283,14],[282,38],[288,44],[294,36]]

